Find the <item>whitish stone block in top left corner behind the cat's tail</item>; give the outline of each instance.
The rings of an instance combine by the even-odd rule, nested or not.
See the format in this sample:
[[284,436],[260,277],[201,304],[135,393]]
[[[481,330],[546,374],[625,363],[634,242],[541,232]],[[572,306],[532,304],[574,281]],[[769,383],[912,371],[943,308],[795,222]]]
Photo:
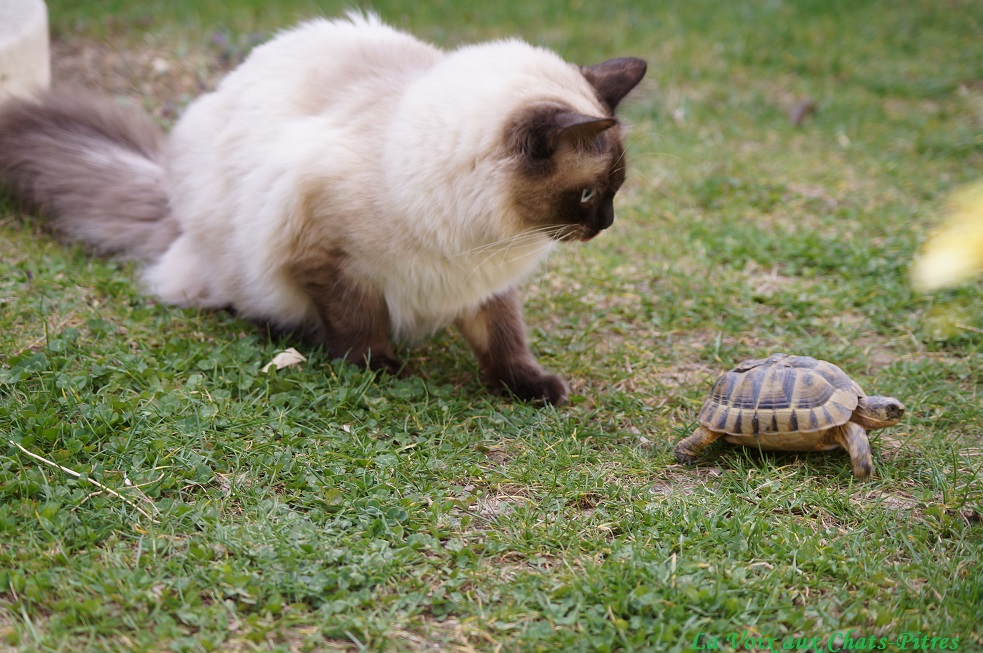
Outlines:
[[51,83],[48,10],[42,0],[0,0],[0,100]]

